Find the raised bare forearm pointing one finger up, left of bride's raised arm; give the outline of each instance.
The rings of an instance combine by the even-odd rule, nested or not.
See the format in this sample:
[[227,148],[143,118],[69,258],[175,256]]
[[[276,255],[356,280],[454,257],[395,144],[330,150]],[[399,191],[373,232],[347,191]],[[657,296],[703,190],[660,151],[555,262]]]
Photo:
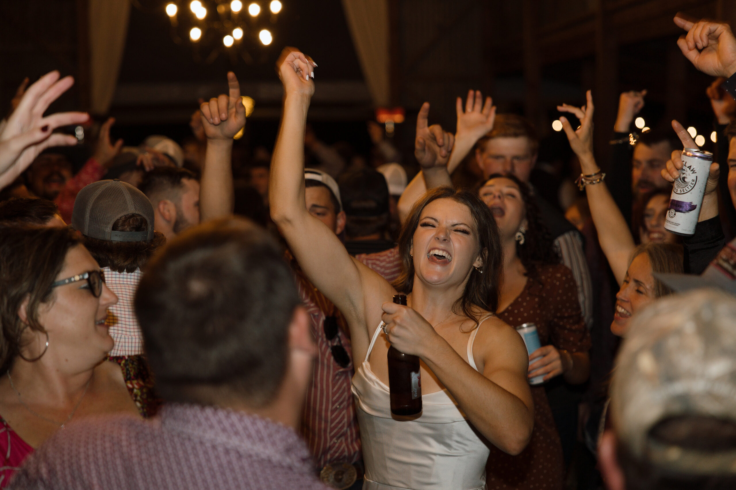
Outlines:
[[235,73],[227,73],[228,94],[199,106],[207,137],[205,165],[199,189],[202,221],[233,214],[233,137],[245,126],[245,107]]

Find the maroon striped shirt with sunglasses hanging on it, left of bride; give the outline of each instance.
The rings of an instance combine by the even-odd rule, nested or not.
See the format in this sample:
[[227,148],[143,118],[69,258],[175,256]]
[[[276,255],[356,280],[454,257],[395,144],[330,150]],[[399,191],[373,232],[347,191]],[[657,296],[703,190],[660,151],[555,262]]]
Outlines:
[[[355,463],[362,458],[358,419],[355,416],[352,386],[354,368],[347,323],[342,313],[319,292],[302,272],[296,259],[286,251],[286,260],[294,270],[299,296],[311,318],[317,346],[314,375],[302,410],[301,433],[307,441],[317,468],[330,463]],[[329,342],[325,336],[325,317],[337,318],[337,336]],[[350,356],[350,364],[340,367],[333,359],[331,345],[339,339]]]

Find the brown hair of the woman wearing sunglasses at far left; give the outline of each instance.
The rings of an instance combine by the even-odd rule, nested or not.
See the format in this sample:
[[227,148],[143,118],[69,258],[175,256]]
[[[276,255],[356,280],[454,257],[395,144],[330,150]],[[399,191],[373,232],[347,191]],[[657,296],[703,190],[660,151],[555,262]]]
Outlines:
[[[52,283],[64,267],[69,249],[80,243],[69,228],[0,225],[0,372],[21,350],[25,328],[45,332],[38,307],[52,300]],[[18,317],[25,298],[27,325]]]

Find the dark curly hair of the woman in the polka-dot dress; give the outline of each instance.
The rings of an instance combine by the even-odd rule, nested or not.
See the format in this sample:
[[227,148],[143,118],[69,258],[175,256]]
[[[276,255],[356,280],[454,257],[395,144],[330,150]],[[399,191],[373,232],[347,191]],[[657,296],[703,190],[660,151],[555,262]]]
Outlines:
[[[494,173],[486,179],[486,183],[492,179],[509,179],[519,187],[521,199],[524,201],[524,217],[526,217],[526,233],[524,234],[524,245],[516,242],[516,253],[526,269],[528,278],[537,278],[537,266],[547,264],[559,264],[559,253],[557,253],[554,239],[545,223],[542,222],[542,213],[534,201],[534,195],[529,184],[520,181],[512,174]],[[485,185],[485,184],[484,184]]]

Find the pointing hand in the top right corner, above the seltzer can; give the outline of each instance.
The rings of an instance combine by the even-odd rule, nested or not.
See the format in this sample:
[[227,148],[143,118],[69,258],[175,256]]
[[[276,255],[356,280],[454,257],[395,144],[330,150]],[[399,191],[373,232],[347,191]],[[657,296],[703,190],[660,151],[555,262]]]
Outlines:
[[687,21],[679,13],[674,21],[687,31],[677,40],[677,46],[695,68],[726,79],[736,73],[736,38],[729,24]]

